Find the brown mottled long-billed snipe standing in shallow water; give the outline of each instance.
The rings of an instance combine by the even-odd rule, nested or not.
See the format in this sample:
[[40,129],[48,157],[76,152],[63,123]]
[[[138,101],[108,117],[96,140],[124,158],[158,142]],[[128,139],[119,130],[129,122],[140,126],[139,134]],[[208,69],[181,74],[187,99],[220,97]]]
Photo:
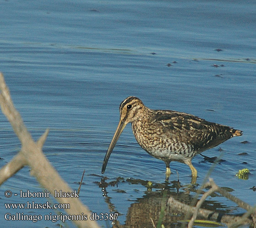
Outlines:
[[166,173],[170,174],[169,163],[179,161],[191,168],[196,178],[197,171],[191,159],[204,150],[224,141],[242,135],[242,131],[225,125],[215,124],[191,114],[148,109],[139,98],[128,97],[120,104],[120,122],[105,155],[102,173],[109,156],[121,135],[125,125],[131,122],[132,131],[139,145],[155,158],[166,164]]

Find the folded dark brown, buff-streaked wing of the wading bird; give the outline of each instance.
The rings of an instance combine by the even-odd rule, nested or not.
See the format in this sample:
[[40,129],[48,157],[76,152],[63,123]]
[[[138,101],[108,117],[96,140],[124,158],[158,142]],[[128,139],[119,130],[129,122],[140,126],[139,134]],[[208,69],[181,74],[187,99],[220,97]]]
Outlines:
[[152,122],[162,126],[165,138],[176,137],[176,141],[192,145],[196,151],[212,148],[232,137],[228,126],[176,111],[155,110]]

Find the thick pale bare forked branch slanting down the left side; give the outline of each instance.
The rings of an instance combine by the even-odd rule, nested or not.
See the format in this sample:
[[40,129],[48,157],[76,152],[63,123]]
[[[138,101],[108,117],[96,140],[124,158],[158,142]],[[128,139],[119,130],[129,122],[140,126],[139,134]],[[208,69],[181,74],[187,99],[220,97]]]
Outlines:
[[[48,130],[40,137],[37,143],[35,143],[27,131],[20,114],[15,109],[12,101],[9,89],[5,84],[5,80],[3,74],[0,73],[0,106],[2,112],[5,114],[6,118],[11,123],[13,130],[18,136],[19,140],[22,143],[22,149],[13,159],[15,162],[22,161],[22,166],[19,166],[21,169],[26,163],[31,167],[31,174],[36,177],[38,182],[44,187],[48,189],[52,196],[54,196],[55,190],[57,192],[73,192],[73,190],[68,186],[68,184],[60,177],[58,172],[54,169],[53,166],[49,163],[47,158],[44,156],[42,151],[42,146],[47,137]],[[14,161],[11,161],[11,165],[7,164],[1,169],[1,175],[3,173],[9,173],[10,175],[14,172],[10,172],[13,170]],[[26,162],[25,162],[26,161]],[[7,168],[6,168],[7,167]],[[18,171],[19,169],[16,169]],[[9,172],[8,172],[9,171]],[[8,175],[5,175],[7,177]],[[6,179],[5,179],[6,180]],[[66,209],[66,212],[71,215],[87,215],[90,216],[89,209],[84,206],[78,198],[66,198],[60,197],[56,198],[56,200],[60,203],[68,203],[70,205],[70,209]],[[99,228],[98,224],[93,220],[73,220],[74,223],[78,227],[81,228]]]

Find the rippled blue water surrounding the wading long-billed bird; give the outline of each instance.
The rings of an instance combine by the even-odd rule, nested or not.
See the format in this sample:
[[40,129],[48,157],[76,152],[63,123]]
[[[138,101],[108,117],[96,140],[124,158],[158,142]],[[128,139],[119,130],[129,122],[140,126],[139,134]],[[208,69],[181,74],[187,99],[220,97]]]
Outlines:
[[[50,129],[44,154],[65,181],[77,189],[86,170],[80,199],[93,212],[109,212],[95,181],[101,180],[102,161],[119,121],[119,104],[130,95],[152,109],[187,112],[243,130],[242,137],[204,155],[218,156],[218,148],[223,149],[225,161],[216,166],[211,177],[253,206],[255,23],[254,1],[7,0],[0,3],[0,71],[33,138],[37,140]],[[0,166],[4,166],[21,146],[2,114],[0,123]],[[245,140],[249,143],[240,143]],[[247,155],[238,155],[243,152]],[[212,164],[200,155],[192,162],[200,185]],[[234,176],[242,168],[250,170],[248,180]],[[190,183],[189,167],[172,162],[171,170],[170,181],[177,180],[177,170],[180,182]],[[164,171],[163,162],[147,155],[136,143],[128,125],[104,176],[107,181],[121,176],[162,183]],[[7,199],[3,192],[27,189],[42,191],[28,167],[0,187],[3,227],[54,227],[51,221],[4,219],[7,212],[16,213],[5,209],[4,203],[29,199]],[[146,190],[127,181],[107,187],[111,203],[120,212],[120,224],[125,224],[128,208],[144,197]],[[212,200],[234,207],[234,213],[244,212],[223,197]],[[33,211],[42,215],[50,212],[57,213]],[[107,227],[104,222],[99,224]]]

